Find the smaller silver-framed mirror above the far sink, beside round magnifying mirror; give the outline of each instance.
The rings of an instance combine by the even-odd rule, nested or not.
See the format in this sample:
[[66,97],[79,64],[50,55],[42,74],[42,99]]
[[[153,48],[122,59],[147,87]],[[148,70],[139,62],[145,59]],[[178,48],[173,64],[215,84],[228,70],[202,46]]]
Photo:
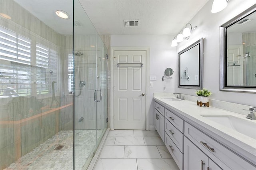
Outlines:
[[203,38],[178,52],[178,88],[203,88]]

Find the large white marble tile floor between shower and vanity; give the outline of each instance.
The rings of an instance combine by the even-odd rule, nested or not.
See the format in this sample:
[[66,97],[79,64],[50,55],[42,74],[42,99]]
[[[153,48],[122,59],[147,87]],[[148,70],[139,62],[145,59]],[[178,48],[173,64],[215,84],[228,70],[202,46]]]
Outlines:
[[179,170],[156,130],[110,130],[94,170]]

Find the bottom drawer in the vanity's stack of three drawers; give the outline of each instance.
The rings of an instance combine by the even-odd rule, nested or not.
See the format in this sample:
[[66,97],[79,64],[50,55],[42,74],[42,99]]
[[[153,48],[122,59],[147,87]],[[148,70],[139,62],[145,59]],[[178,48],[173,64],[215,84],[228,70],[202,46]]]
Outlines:
[[177,146],[166,133],[164,134],[164,144],[166,148],[169,150],[170,154],[172,155],[172,158],[174,159],[180,170],[182,170],[183,154],[180,152],[180,150],[177,148]]

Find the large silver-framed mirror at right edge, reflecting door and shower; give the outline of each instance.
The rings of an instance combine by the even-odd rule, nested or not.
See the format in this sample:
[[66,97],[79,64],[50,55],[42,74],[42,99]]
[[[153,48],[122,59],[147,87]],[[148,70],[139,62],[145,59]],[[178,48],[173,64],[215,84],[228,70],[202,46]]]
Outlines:
[[220,91],[256,93],[256,4],[220,26]]

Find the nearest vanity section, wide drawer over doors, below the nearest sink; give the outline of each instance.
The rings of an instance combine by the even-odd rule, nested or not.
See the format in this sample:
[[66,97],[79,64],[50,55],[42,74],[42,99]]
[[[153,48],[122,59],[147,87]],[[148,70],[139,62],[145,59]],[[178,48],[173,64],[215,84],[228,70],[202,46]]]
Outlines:
[[[216,163],[214,163],[213,166],[219,166],[221,169],[224,170],[256,170],[255,166],[252,166],[250,163],[232,152],[230,149],[226,148],[225,146],[211,138],[210,134],[205,134],[204,132],[200,131],[198,128],[190,125],[187,122],[185,122],[184,127],[184,135],[186,136],[184,137],[184,169],[189,169],[190,166],[192,166],[191,164],[194,164],[193,162],[195,157],[198,157],[198,159],[203,159],[203,156],[201,158],[198,155],[207,155],[206,157],[208,157],[209,160],[211,159],[213,163]],[[198,150],[201,153],[199,151],[196,151],[196,146],[200,149]],[[194,154],[193,152],[196,152],[196,154]],[[204,158],[203,161],[203,163],[208,162],[207,158]],[[196,162],[195,166],[197,166],[198,164],[200,164],[200,162]],[[207,166],[209,166],[210,169],[214,170],[214,168],[211,168],[210,165]],[[207,168],[207,166],[204,167]]]

